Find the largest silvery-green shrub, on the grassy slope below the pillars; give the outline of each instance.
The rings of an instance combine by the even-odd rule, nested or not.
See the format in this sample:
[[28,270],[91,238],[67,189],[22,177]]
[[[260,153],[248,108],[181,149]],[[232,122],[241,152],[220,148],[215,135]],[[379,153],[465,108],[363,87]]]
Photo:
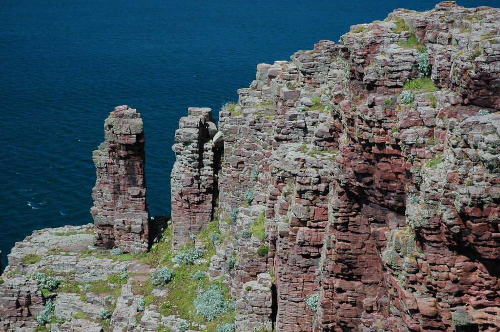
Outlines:
[[193,304],[196,314],[202,315],[207,321],[212,321],[232,309],[230,301],[224,298],[222,288],[218,285],[210,285],[206,290],[198,289]]

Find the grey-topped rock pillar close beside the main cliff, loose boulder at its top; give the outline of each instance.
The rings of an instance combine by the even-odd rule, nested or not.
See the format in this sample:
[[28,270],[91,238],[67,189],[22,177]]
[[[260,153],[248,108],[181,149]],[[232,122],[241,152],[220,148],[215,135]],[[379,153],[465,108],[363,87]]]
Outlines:
[[190,107],[175,131],[170,182],[174,247],[192,241],[211,220],[214,193],[216,196],[214,158],[218,162],[222,142],[216,133],[212,110],[202,107]]

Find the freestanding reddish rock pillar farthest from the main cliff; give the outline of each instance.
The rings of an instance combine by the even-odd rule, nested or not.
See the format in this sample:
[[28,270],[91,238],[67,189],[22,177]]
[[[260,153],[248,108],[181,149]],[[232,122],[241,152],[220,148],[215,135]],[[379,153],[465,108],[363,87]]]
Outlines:
[[144,175],[144,129],[136,109],[117,106],[104,122],[104,142],[92,153],[96,246],[141,252],[149,247],[150,217]]

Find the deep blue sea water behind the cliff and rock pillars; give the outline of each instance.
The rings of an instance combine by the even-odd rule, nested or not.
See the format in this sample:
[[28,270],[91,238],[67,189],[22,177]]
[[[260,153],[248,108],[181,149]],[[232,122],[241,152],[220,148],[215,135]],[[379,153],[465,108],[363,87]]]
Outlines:
[[[32,230],[92,222],[91,152],[116,105],[142,114],[147,200],[170,213],[171,150],[189,106],[217,116],[257,63],[430,0],[2,0],[0,250]],[[498,6],[498,0],[463,0]]]

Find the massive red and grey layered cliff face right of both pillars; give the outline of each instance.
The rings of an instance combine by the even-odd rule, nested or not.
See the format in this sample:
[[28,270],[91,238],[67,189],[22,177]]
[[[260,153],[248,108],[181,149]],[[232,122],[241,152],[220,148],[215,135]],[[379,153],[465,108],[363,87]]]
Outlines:
[[218,124],[239,330],[500,329],[499,29],[446,1],[257,66]]

